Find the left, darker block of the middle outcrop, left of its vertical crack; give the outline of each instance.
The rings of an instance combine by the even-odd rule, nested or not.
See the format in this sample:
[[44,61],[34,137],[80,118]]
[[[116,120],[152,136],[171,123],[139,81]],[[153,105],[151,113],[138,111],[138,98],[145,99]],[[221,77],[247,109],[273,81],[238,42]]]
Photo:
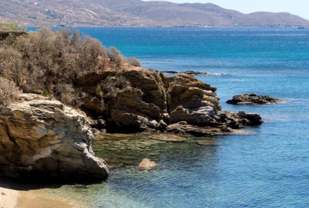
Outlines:
[[[98,87],[108,77],[125,78],[112,97]],[[111,132],[164,130],[162,120],[167,113],[166,78],[158,71],[133,68],[124,71],[102,71],[78,78],[76,85],[84,89],[83,107],[95,116],[103,116]],[[100,95],[101,96],[100,98]]]

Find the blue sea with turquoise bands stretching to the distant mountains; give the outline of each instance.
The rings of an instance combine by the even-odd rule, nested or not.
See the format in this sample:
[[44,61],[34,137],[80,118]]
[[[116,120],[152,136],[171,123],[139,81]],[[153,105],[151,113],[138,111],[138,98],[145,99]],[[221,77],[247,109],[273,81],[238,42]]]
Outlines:
[[[265,121],[249,135],[167,143],[143,135],[111,135],[94,144],[114,168],[102,184],[53,192],[90,207],[309,207],[309,30],[297,28],[77,28],[159,71],[203,71],[222,108],[257,112]],[[256,93],[284,103],[235,106]],[[210,145],[201,146],[199,140]],[[144,158],[162,167],[137,171]]]

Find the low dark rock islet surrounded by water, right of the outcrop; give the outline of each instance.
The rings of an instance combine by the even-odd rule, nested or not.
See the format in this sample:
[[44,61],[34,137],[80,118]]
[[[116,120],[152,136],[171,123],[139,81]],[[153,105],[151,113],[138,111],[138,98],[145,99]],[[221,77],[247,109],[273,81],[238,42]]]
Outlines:
[[266,105],[272,103],[280,103],[282,101],[282,99],[272,98],[270,96],[262,96],[256,94],[240,94],[237,96],[233,96],[233,98],[226,101],[226,103],[233,105]]

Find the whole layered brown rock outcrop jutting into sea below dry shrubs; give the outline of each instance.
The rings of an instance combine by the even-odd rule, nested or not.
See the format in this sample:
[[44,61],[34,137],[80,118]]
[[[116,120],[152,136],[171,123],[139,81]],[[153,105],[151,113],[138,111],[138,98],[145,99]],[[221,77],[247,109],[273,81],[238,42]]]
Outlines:
[[[115,85],[119,80],[122,85]],[[85,74],[76,85],[83,89],[82,106],[94,119],[106,120],[110,132],[167,130],[203,136],[262,123],[258,114],[222,112],[216,88],[189,75],[167,78],[151,69],[128,67]]]

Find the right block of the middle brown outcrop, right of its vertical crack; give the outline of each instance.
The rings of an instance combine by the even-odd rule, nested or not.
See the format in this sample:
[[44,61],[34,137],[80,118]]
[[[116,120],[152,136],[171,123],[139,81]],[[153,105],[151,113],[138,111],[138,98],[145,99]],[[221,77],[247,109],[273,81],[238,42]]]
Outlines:
[[217,122],[221,106],[215,87],[186,75],[171,77],[168,81],[169,123],[185,121],[207,126]]

